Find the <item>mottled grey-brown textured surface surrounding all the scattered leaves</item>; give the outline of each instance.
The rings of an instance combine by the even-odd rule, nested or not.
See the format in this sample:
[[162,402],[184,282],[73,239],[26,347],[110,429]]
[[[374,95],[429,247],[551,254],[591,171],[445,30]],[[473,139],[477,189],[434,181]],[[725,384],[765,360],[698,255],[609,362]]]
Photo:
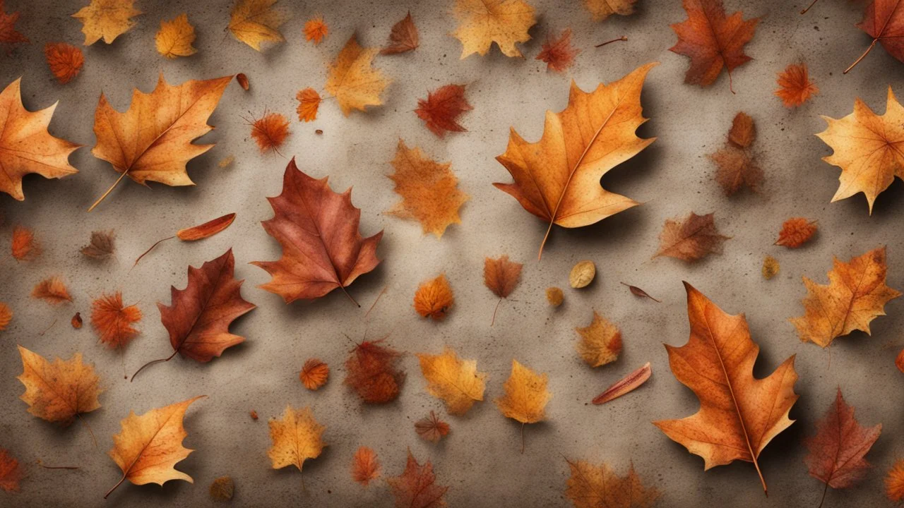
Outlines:
[[[854,333],[836,342],[831,351],[800,343],[787,318],[802,313],[805,288],[800,277],[826,282],[832,257],[849,259],[878,245],[889,246],[889,284],[904,288],[904,250],[901,249],[899,208],[904,206],[901,183],[882,193],[870,217],[862,195],[830,204],[839,170],[820,157],[830,149],[815,136],[823,130],[819,115],[840,118],[852,111],[855,97],[884,111],[886,87],[900,83],[904,67],[877,47],[847,76],[842,71],[868,45],[869,38],[853,26],[862,6],[824,0],[807,15],[797,14],[801,1],[730,0],[728,9],[762,16],[747,52],[754,60],[734,73],[737,95],[722,77],[710,88],[683,84],[688,59],[668,52],[675,36],[668,24],[685,19],[676,0],[640,0],[637,14],[593,23],[577,0],[532,0],[540,23],[534,39],[521,46],[526,59],[509,59],[495,48],[485,57],[459,60],[461,46],[447,35],[455,20],[447,14],[450,2],[280,2],[293,14],[282,28],[287,43],[258,53],[223,32],[231,2],[140,0],[146,14],[137,26],[107,45],[84,48],[86,64],[68,85],[52,80],[43,58],[44,42],[82,42],[80,23],[70,14],[87,1],[10,0],[8,10],[21,10],[19,28],[32,43],[20,46],[0,64],[0,85],[23,76],[28,108],[45,108],[59,100],[51,124],[56,136],[86,145],[71,157],[80,173],[62,180],[33,176],[25,181],[25,202],[0,196],[5,221],[0,249],[9,251],[14,224],[33,228],[45,252],[32,263],[17,264],[0,256],[0,301],[14,308],[14,322],[0,334],[0,447],[9,448],[23,463],[27,477],[19,494],[0,493],[0,503],[21,506],[202,505],[210,503],[207,485],[219,475],[236,481],[237,505],[282,503],[323,506],[389,506],[385,482],[364,489],[349,476],[353,451],[373,447],[384,475],[399,475],[406,448],[421,461],[430,459],[438,482],[449,485],[452,506],[563,506],[569,468],[566,457],[606,461],[624,473],[631,461],[645,484],[663,493],[661,505],[792,506],[818,503],[823,484],[809,477],[803,463],[803,438],[813,432],[833,400],[836,386],[857,408],[864,425],[881,422],[883,432],[869,459],[875,469],[860,486],[830,492],[828,506],[887,505],[881,477],[896,456],[904,455],[899,435],[904,431],[900,395],[904,375],[893,359],[904,345],[904,300],[887,306],[889,316],[873,322],[872,336]],[[258,289],[267,274],[248,265],[252,260],[277,259],[279,247],[260,227],[271,216],[266,196],[280,192],[287,158],[260,155],[243,117],[259,116],[268,108],[294,118],[297,89],[323,89],[325,64],[357,32],[363,44],[381,45],[391,25],[410,9],[419,27],[416,52],[378,57],[375,65],[393,79],[384,92],[384,106],[344,118],[333,100],[326,100],[312,124],[292,122],[292,136],[282,153],[297,155],[299,166],[320,177],[329,175],[336,190],[354,185],[353,202],[363,209],[361,229],[371,235],[385,230],[379,255],[383,262],[361,278],[350,292],[363,308],[353,307],[334,292],[312,304],[283,304]],[[197,27],[198,53],[165,61],[154,49],[153,37],[161,19],[186,12]],[[319,46],[303,42],[301,27],[314,14],[323,14],[331,33]],[[565,75],[547,73],[533,60],[545,34],[571,27],[583,50]],[[627,34],[629,42],[600,49],[593,44]],[[775,75],[786,64],[803,59],[821,94],[803,108],[786,110],[773,97]],[[600,81],[616,80],[647,61],[661,61],[649,75],[643,95],[642,136],[658,136],[643,153],[611,171],[607,188],[640,202],[636,207],[580,230],[552,232],[541,262],[536,251],[545,226],[490,183],[507,182],[509,175],[494,161],[504,151],[508,128],[525,138],[541,135],[543,111],[564,108],[568,83],[584,89]],[[188,165],[197,186],[144,188],[122,182],[95,212],[85,209],[116,177],[108,163],[90,155],[94,144],[93,113],[101,91],[114,108],[125,110],[133,88],[153,89],[158,72],[167,80],[210,79],[245,72],[251,91],[231,85],[211,124],[216,130],[204,138],[216,146]],[[428,89],[447,83],[466,83],[474,110],[463,117],[468,132],[438,139],[423,127],[412,110]],[[896,90],[899,96],[904,89]],[[743,109],[758,125],[757,149],[767,182],[762,193],[725,198],[712,181],[714,168],[706,155],[723,142],[734,114]],[[315,128],[324,130],[315,135]],[[447,230],[442,240],[421,234],[419,224],[387,217],[383,211],[398,197],[391,192],[391,160],[402,137],[440,160],[452,161],[461,187],[471,196],[462,209],[461,225]],[[235,155],[227,169],[217,161]],[[724,254],[687,266],[674,259],[650,260],[663,221],[688,212],[716,212],[720,229],[733,238]],[[229,230],[194,244],[171,241],[161,245],[136,269],[132,259],[155,240],[174,230],[238,212]],[[781,222],[791,216],[816,219],[817,239],[805,249],[773,247]],[[897,224],[897,225],[896,225]],[[92,263],[78,251],[91,230],[114,229],[116,259]],[[232,330],[247,342],[220,359],[199,364],[182,358],[155,365],[134,383],[123,381],[119,353],[97,343],[87,325],[91,298],[121,289],[127,302],[137,302],[145,319],[142,334],[125,353],[128,372],[171,352],[155,302],[169,302],[169,286],[184,287],[189,264],[200,266],[225,249],[235,250],[237,277],[246,278],[243,296],[259,308],[240,319]],[[508,254],[524,263],[523,282],[499,309],[490,327],[494,296],[482,280],[485,256]],[[765,281],[759,268],[771,254],[782,264],[779,277]],[[567,285],[568,270],[580,259],[598,264],[597,281],[586,290],[566,290],[558,310],[547,306],[543,288]],[[411,296],[419,282],[445,271],[457,296],[455,309],[444,323],[419,318]],[[40,279],[59,274],[75,297],[72,305],[53,307],[28,297]],[[681,280],[700,288],[730,313],[746,312],[754,340],[762,347],[758,375],[766,375],[791,354],[797,354],[801,395],[791,412],[796,423],[778,436],[761,456],[769,484],[764,497],[753,466],[736,463],[704,473],[702,460],[688,454],[657,428],[654,419],[679,418],[697,409],[690,390],[668,370],[662,343],[683,344],[688,325]],[[664,300],[662,304],[629,295],[619,281],[636,284]],[[382,287],[388,287],[369,319],[364,311]],[[618,362],[591,370],[574,351],[573,327],[587,325],[592,309],[622,328],[625,350]],[[75,331],[69,318],[86,316],[85,328]],[[46,333],[41,334],[56,320]],[[408,371],[399,400],[381,407],[363,407],[342,384],[343,362],[351,348],[344,337],[389,335],[389,343],[407,353]],[[15,344],[22,343],[47,357],[69,358],[83,352],[102,376],[103,407],[85,417],[98,436],[91,444],[79,424],[58,428],[26,413],[18,400],[23,387],[15,376],[21,362]],[[489,373],[485,402],[463,418],[447,418],[451,434],[439,445],[419,439],[412,423],[430,409],[445,418],[439,400],[424,390],[413,353],[441,351],[444,344],[465,358],[476,358]],[[324,389],[315,393],[297,381],[309,356],[318,356],[333,369]],[[529,426],[526,450],[519,453],[519,425],[504,419],[492,400],[502,393],[512,358],[549,372],[553,398],[548,420]],[[831,359],[831,363],[830,363]],[[644,362],[653,363],[653,379],[645,387],[604,407],[589,400],[609,383]],[[185,445],[196,451],[178,465],[195,484],[121,485],[106,503],[101,499],[118,481],[118,467],[106,456],[110,437],[129,409],[143,413],[198,394],[185,419]],[[267,419],[287,404],[310,405],[325,426],[329,447],[305,465],[307,492],[302,493],[297,470],[275,471],[266,455]],[[248,412],[256,409],[259,421]],[[45,470],[34,461],[79,465],[78,471]]]

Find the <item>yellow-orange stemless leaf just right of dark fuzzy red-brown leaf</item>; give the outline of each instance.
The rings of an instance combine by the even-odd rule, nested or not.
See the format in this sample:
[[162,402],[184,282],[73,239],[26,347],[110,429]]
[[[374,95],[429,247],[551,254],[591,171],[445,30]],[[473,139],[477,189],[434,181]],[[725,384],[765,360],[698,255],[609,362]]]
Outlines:
[[476,360],[461,360],[451,348],[442,354],[418,353],[427,391],[446,402],[449,414],[463,415],[475,400],[484,400],[486,373],[477,372]]

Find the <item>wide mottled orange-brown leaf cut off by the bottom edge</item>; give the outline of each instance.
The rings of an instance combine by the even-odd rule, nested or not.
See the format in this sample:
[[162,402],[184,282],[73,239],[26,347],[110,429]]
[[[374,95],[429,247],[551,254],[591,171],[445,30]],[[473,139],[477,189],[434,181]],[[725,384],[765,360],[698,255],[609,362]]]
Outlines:
[[565,497],[575,508],[652,508],[659,491],[645,487],[632,464],[623,478],[606,463],[594,466],[587,461],[568,461],[571,476]]

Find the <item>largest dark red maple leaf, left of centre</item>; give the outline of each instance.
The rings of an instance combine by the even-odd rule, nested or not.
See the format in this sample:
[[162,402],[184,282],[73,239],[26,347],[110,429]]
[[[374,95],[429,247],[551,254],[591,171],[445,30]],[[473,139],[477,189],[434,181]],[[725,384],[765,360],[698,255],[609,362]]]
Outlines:
[[345,287],[380,264],[376,252],[383,232],[362,238],[361,210],[352,204],[352,190],[334,193],[328,177],[311,178],[293,158],[283,176],[283,192],[267,199],[274,217],[262,224],[282,246],[282,258],[251,262],[272,276],[259,287],[286,303],[313,300],[339,287],[354,302]]

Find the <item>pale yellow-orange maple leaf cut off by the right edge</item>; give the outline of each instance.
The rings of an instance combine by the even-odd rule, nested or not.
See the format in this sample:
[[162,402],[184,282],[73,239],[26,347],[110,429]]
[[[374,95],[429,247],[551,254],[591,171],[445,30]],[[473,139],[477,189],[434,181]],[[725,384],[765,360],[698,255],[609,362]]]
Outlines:
[[[901,11],[904,13],[904,10]],[[861,99],[855,99],[853,112],[844,118],[823,117],[828,127],[816,136],[833,149],[823,157],[842,168],[841,185],[832,202],[864,193],[870,205],[889,188],[895,176],[904,178],[904,107],[889,87],[885,114],[872,112]]]

